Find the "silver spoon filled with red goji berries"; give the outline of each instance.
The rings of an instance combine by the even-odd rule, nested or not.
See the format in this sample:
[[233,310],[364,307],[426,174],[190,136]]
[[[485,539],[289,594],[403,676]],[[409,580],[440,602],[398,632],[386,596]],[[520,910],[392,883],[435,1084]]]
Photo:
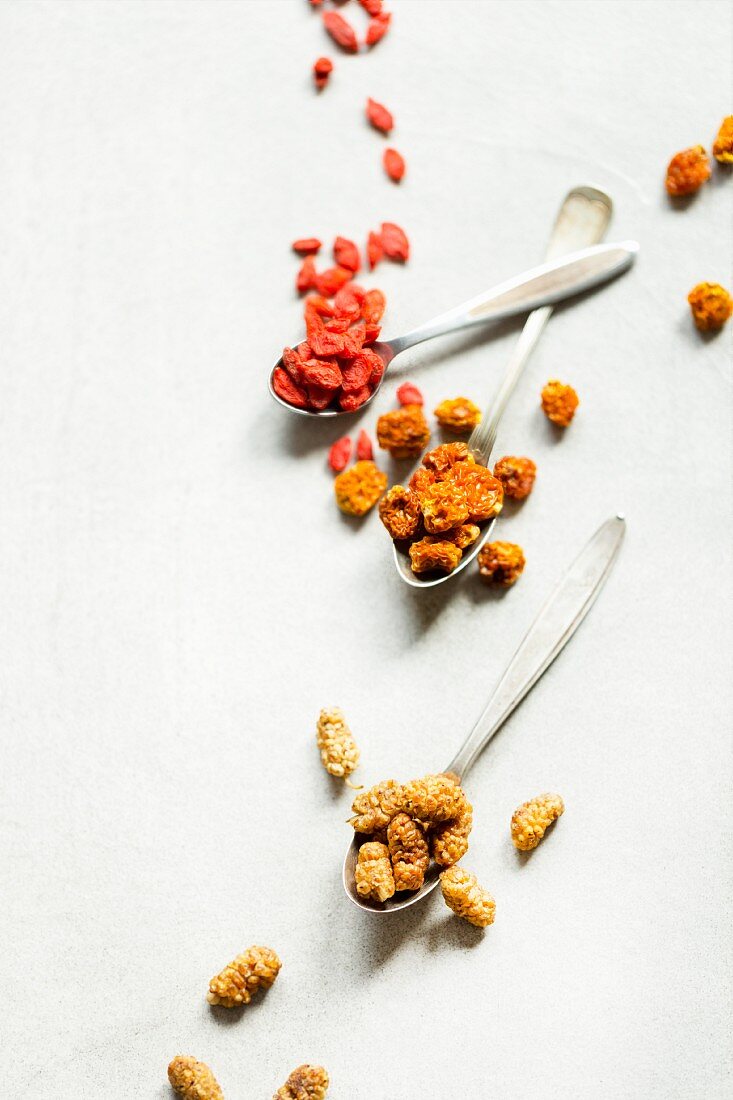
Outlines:
[[[381,358],[386,374],[386,367],[395,355],[407,348],[413,348],[424,340],[431,340],[433,337],[470,329],[474,324],[485,324],[486,321],[499,321],[504,317],[513,317],[515,314],[527,314],[541,306],[556,305],[564,298],[582,294],[584,290],[590,290],[600,283],[606,283],[615,275],[625,272],[633,264],[637,252],[636,241],[620,241],[616,244],[599,244],[591,249],[581,249],[570,255],[540,264],[539,267],[533,267],[522,275],[515,275],[497,286],[492,286],[490,290],[480,294],[478,298],[464,301],[461,306],[428,321],[427,324],[413,329],[404,337],[370,344],[370,348]],[[283,361],[278,359],[270,372],[269,386],[271,396],[283,408],[289,413],[296,413],[298,416],[352,416],[351,413],[344,413],[341,409],[328,408],[316,411],[298,409],[294,405],[288,405],[287,402],[277,396],[272,383],[273,374],[282,365]],[[369,400],[360,405],[357,411],[363,411],[374,400],[384,382],[385,374],[382,375]]]

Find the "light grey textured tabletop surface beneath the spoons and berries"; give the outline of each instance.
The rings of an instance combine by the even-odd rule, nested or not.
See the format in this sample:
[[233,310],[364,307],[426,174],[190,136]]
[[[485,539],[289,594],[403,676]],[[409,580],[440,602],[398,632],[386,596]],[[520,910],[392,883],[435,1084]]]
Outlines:
[[[733,180],[676,210],[663,178],[731,110],[730,8],[392,7],[355,58],[305,0],[0,8],[3,1096],[165,1100],[178,1052],[228,1100],[303,1060],[333,1100],[727,1091],[731,327],[701,339],[686,295],[731,283]],[[507,413],[500,453],[539,468],[500,528],[526,573],[414,593],[378,517],[333,505],[337,430],[267,397],[299,332],[289,242],[403,223],[414,257],[374,280],[396,334],[538,262],[584,182],[642,255],[554,318]],[[517,331],[402,377],[484,402]],[[550,376],[582,402],[562,438]],[[319,707],[363,781],[441,767],[616,509],[601,601],[471,776],[495,925],[438,897],[365,919]],[[523,861],[510,815],[545,789],[567,813]],[[275,988],[212,1012],[209,977],[260,942]]]

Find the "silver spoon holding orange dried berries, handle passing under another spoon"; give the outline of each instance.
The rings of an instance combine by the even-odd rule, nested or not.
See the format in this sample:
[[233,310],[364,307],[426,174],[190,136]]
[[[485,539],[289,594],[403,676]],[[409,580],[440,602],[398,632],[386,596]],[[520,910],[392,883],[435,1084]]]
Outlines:
[[[611,220],[612,211],[613,204],[609,196],[595,187],[575,187],[571,191],[568,191],[558,211],[545,258],[547,261],[556,260],[557,256],[573,252],[583,245],[593,245],[602,240]],[[611,245],[609,246],[611,248]],[[543,306],[529,315],[514,352],[506,364],[504,377],[489,407],[491,416],[489,416],[488,409],[481,424],[473,429],[469,437],[469,451],[481,465],[489,465],[489,459],[496,442],[499,422],[519,381],[519,375],[551,314],[551,306]],[[481,547],[491,537],[494,522],[495,519],[492,519],[484,527],[473,546],[463,552],[463,557],[456,569],[451,573],[445,573],[440,576],[424,578],[418,573],[413,573],[409,558],[394,547],[394,563],[400,576],[406,584],[411,584],[414,588],[431,588],[436,584],[442,584],[445,581],[450,580],[451,576],[456,576],[473,561]]]

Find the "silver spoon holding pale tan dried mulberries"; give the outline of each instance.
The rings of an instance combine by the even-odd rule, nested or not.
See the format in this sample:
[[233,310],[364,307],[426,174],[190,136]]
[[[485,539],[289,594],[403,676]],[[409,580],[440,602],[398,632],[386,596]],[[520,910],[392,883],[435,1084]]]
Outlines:
[[[529,627],[479,721],[446,766],[446,771],[463,780],[479,754],[576,632],[611,572],[625,528],[623,516],[612,516],[581,550]],[[416,904],[435,890],[441,868],[431,864],[424,886],[414,894],[391,898],[381,904],[364,901],[354,884],[359,846],[363,842],[363,836],[360,840],[354,835],[343,861],[343,889],[359,909],[369,913],[394,913]]]

